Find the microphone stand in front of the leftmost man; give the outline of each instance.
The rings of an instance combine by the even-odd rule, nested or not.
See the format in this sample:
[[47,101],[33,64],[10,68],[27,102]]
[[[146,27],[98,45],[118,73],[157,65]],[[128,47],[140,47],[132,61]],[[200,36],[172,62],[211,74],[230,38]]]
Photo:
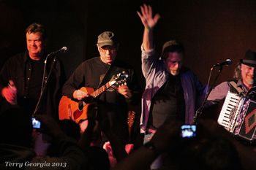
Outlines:
[[[50,72],[49,72],[49,74],[48,74],[48,77],[45,77],[45,74],[46,74],[46,64],[47,64],[48,57],[49,57],[50,55],[53,55],[53,54],[55,54],[55,56],[54,56],[54,58],[53,58],[53,63],[52,63],[52,65],[50,66]],[[42,75],[42,86],[41,86],[40,96],[39,96],[39,98],[38,98],[37,106],[36,106],[35,109],[34,109],[34,113],[33,113],[32,117],[34,117],[34,115],[36,115],[36,113],[37,113],[37,111],[38,111],[38,109],[39,109],[39,104],[40,104],[41,101],[42,101],[42,96],[43,96],[43,94],[45,93],[45,89],[46,89],[46,86],[47,86],[47,83],[48,83],[50,74],[51,74],[51,72],[52,72],[52,70],[53,70],[53,66],[54,66],[54,64],[55,64],[55,62],[56,62],[56,55],[57,55],[56,53],[50,53],[50,54],[48,54],[48,55],[46,56],[46,58],[45,58],[45,66],[44,66],[43,75]]]

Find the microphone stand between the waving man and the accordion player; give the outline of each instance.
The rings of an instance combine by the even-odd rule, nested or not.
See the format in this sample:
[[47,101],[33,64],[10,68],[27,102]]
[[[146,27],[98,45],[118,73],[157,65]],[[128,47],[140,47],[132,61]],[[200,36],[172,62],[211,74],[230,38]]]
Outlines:
[[[214,66],[211,67],[211,72],[212,72],[213,69],[214,69]],[[208,77],[206,96],[205,96],[205,98],[204,98],[203,103],[201,104],[201,106],[200,106],[200,107],[197,109],[197,111],[195,112],[193,124],[196,124],[196,123],[197,123],[197,118],[198,118],[200,115],[202,115],[202,111],[203,111],[204,107],[206,106],[207,98],[208,98],[208,96],[210,95],[211,90],[213,89],[212,87],[214,87],[214,85],[216,84],[217,79],[218,79],[218,77],[219,77],[219,74],[222,72],[222,66],[219,66],[218,74],[217,74],[217,76],[215,77],[213,84],[212,84],[211,86],[209,86],[210,80],[211,80],[211,72],[210,72],[209,77]]]

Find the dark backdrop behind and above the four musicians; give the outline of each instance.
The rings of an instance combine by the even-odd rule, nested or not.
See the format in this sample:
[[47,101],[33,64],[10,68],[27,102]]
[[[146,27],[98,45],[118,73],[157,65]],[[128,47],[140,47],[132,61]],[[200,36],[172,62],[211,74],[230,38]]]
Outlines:
[[0,0],[0,67],[11,55],[26,50],[24,30],[33,22],[46,26],[50,52],[68,47],[68,53],[60,55],[67,77],[79,63],[98,55],[97,36],[113,31],[121,43],[118,58],[134,66],[144,88],[140,69],[143,25],[136,13],[143,3],[161,15],[154,30],[157,51],[169,39],[183,42],[184,65],[203,83],[211,66],[227,58],[233,64],[223,67],[217,84],[232,79],[246,50],[256,50],[254,0]]

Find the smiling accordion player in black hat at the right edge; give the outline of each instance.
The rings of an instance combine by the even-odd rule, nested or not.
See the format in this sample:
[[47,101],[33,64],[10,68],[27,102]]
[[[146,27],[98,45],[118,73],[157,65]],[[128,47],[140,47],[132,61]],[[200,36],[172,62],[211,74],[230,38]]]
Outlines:
[[247,93],[249,90],[255,88],[255,68],[256,53],[252,50],[247,50],[244,58],[239,61],[238,66],[235,69],[235,74],[233,76],[233,82],[236,82],[235,88],[233,88],[234,86],[231,85],[230,82],[222,82],[211,90],[211,93],[207,98],[208,104],[216,104],[225,99],[228,90],[235,90],[236,92],[236,88],[239,88],[243,90],[244,93]]

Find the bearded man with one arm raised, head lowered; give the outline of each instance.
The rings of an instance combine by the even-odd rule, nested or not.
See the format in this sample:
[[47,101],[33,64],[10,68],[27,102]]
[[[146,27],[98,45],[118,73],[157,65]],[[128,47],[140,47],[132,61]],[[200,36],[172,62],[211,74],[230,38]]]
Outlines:
[[[155,131],[169,120],[193,123],[195,110],[206,93],[206,86],[197,80],[196,75],[182,65],[184,46],[170,40],[157,55],[154,48],[153,31],[159,14],[153,16],[151,6],[144,4],[138,12],[144,26],[142,50],[142,71],[146,88],[142,97],[141,132],[148,142]],[[159,57],[160,56],[160,57]],[[162,158],[151,164],[151,169],[162,166]]]

